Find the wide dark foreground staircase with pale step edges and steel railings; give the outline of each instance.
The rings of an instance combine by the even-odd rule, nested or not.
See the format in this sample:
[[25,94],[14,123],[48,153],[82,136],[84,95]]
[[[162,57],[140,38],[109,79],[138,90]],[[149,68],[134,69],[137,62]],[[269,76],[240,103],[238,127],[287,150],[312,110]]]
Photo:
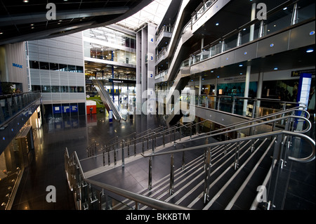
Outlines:
[[[65,168],[77,207],[115,210],[272,209],[275,206],[273,194],[277,192],[275,183],[278,176],[275,173],[279,173],[289,161],[305,163],[315,159],[315,141],[303,134],[310,130],[310,121],[300,117],[306,128],[303,131],[287,131],[292,129],[292,121],[298,117],[283,115],[268,121],[253,119],[251,124],[245,121],[207,133],[197,131],[204,121],[178,124],[169,129],[161,127],[155,132],[144,133],[140,138],[121,141],[121,147],[114,147],[113,151],[101,149],[81,160],[76,154],[70,157],[66,150]],[[286,121],[284,130],[270,133],[254,131],[250,136],[241,132],[262,124],[274,125],[280,120]],[[225,140],[216,140],[218,136]],[[228,136],[237,138],[229,139]],[[305,158],[289,156],[292,137],[308,142],[312,153]],[[106,158],[114,158],[114,154],[117,157],[112,164],[105,162]],[[81,165],[93,161],[98,164],[93,169],[95,173],[82,169]],[[106,176],[107,172],[122,170],[121,166],[133,164],[148,168],[148,186],[138,192],[126,192],[114,187],[115,183],[106,185],[93,179],[98,174],[97,170]]]

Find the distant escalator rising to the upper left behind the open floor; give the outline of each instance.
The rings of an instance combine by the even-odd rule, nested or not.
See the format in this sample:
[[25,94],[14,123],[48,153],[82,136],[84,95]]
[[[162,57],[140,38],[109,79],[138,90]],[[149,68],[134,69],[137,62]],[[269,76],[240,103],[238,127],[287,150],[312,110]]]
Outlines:
[[107,109],[107,112],[110,112],[112,110],[114,119],[117,121],[120,121],[123,119],[126,121],[127,115],[122,110],[119,110],[119,107],[113,103],[111,100],[110,94],[105,88],[105,86],[102,84],[102,82],[98,79],[93,80],[93,85],[96,87],[96,90],[98,91],[100,98],[105,105],[105,108]]

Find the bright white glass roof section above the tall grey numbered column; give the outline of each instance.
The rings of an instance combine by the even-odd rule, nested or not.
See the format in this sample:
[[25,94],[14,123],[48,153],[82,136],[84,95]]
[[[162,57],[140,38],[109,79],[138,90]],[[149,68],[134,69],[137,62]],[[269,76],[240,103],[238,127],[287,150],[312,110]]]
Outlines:
[[154,0],[151,4],[138,11],[138,13],[131,15],[125,20],[121,20],[116,24],[121,25],[127,29],[132,29],[133,31],[140,29],[140,27],[142,27],[146,22],[159,25],[160,22],[162,22],[164,14],[166,13],[170,4],[171,0]]

